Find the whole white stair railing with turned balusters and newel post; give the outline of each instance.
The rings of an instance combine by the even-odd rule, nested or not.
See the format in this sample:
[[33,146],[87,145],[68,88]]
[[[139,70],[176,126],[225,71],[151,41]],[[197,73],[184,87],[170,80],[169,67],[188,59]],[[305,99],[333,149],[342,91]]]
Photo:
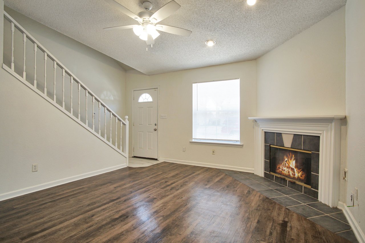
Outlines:
[[[7,12],[4,11],[4,18],[7,19],[10,23],[11,23],[11,67],[8,67],[7,65],[5,65],[5,63],[3,63],[3,68],[5,70],[7,70],[9,73],[13,74],[13,76],[15,76],[16,78],[18,78],[18,80],[22,81],[24,84],[26,84],[29,88],[31,88],[32,90],[34,90],[36,93],[38,93],[40,96],[42,96],[43,98],[45,98],[47,101],[49,101],[51,104],[53,104],[55,107],[57,107],[59,110],[61,110],[62,112],[64,112],[66,115],[68,115],[69,117],[71,117],[73,120],[77,121],[80,125],[82,125],[83,127],[85,127],[86,129],[88,129],[89,131],[91,131],[94,135],[96,135],[97,137],[99,137],[101,140],[103,140],[104,142],[106,142],[107,144],[109,144],[112,148],[114,148],[116,151],[118,151],[119,153],[121,153],[122,155],[124,155],[124,157],[126,157],[127,159],[127,165],[128,165],[128,126],[129,126],[129,122],[128,122],[128,116],[125,116],[125,120],[123,120],[122,118],[120,118],[114,111],[112,111],[111,108],[108,107],[107,104],[105,104],[99,97],[97,97],[89,88],[87,88],[86,85],[84,85],[69,69],[67,69],[60,61],[58,61],[57,58],[54,57],[54,55],[52,55],[44,46],[41,45],[41,43],[39,43],[31,34],[29,34],[22,26],[20,26],[20,24],[18,22],[16,22],[16,20],[14,20]],[[23,76],[20,76],[18,73],[15,72],[14,70],[14,31],[15,28],[17,30],[19,30],[22,34],[23,34]],[[34,84],[30,84],[30,82],[28,82],[26,80],[26,41],[30,40],[31,43],[34,44]],[[40,91],[37,88],[37,78],[36,78],[36,70],[37,70],[37,50],[41,50],[42,54],[44,55],[44,91]],[[54,71],[54,75],[53,75],[53,99],[51,99],[50,97],[47,96],[47,72],[46,72],[46,64],[47,64],[47,58],[49,58],[52,62],[53,62],[53,71]],[[59,68],[62,69],[62,105],[58,104],[56,102],[56,69],[57,66]],[[68,76],[70,77],[70,110],[67,110],[65,108],[65,74],[68,74]],[[76,103],[73,103],[73,96],[72,96],[72,84],[73,81],[76,82],[76,86],[78,89],[78,115],[74,116],[73,115],[73,104],[76,105]],[[81,115],[80,115],[80,98],[81,98],[81,87],[85,90],[85,110],[83,114],[85,114],[85,123],[83,121],[81,121]],[[91,100],[92,100],[92,128],[88,126],[88,96],[91,96]],[[98,104],[96,104],[97,108],[99,108],[99,129],[97,129],[95,127],[95,100],[97,101]],[[104,136],[101,135],[101,116],[100,116],[100,112],[101,112],[101,107],[104,108]],[[110,121],[107,121],[107,111],[110,112]],[[89,110],[90,113],[90,110]],[[113,121],[113,117],[115,117],[114,121]],[[120,122],[120,137],[118,138],[118,121]],[[110,124],[110,131],[108,131],[108,135],[107,135],[107,122],[108,124]],[[112,127],[115,128],[115,134],[112,134]],[[122,128],[124,127],[125,132],[124,132],[124,139],[122,136]],[[95,130],[99,130],[99,132],[96,132]],[[107,137],[109,137],[109,139],[107,139]],[[112,140],[115,140],[115,143],[112,143]],[[118,147],[118,143],[120,144],[120,146]]]

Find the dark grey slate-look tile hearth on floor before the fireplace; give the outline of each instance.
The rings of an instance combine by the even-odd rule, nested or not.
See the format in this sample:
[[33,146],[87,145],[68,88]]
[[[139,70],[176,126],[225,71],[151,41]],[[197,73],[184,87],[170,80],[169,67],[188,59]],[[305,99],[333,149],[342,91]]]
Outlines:
[[223,169],[220,171],[343,238],[358,242],[341,209],[331,208],[313,197],[253,173]]

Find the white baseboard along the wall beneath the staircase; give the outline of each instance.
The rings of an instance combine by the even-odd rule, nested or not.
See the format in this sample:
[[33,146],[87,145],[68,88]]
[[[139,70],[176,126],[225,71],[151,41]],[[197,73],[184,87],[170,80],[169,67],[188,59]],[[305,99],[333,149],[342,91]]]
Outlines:
[[47,189],[47,188],[51,188],[51,187],[54,187],[54,186],[59,186],[59,185],[62,185],[62,184],[66,184],[68,182],[85,179],[85,178],[88,178],[88,177],[92,177],[94,175],[104,174],[104,173],[107,173],[107,172],[110,172],[110,171],[113,171],[113,170],[119,170],[119,169],[122,169],[122,168],[125,168],[125,167],[127,167],[126,163],[124,163],[122,165],[116,165],[116,166],[108,167],[108,168],[101,169],[101,170],[91,171],[91,172],[80,174],[80,175],[74,175],[74,176],[71,176],[71,177],[66,177],[66,178],[63,178],[63,179],[55,180],[55,181],[46,182],[46,183],[35,185],[35,186],[30,186],[30,187],[15,190],[15,191],[12,191],[12,192],[5,192],[5,193],[0,194],[0,201],[7,200],[7,199],[13,198],[13,197],[22,196],[22,195],[32,193],[32,192],[37,192],[37,191]]

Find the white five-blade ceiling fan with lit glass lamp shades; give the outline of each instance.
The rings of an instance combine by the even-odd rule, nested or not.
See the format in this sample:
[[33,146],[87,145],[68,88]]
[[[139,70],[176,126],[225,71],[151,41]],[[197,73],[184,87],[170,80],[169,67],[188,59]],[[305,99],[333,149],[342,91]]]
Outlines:
[[152,4],[149,1],[145,1],[143,2],[142,6],[144,9],[146,9],[146,11],[139,12],[137,15],[114,0],[105,1],[113,7],[117,8],[120,12],[130,16],[132,19],[137,20],[139,24],[108,27],[104,28],[104,30],[133,29],[134,34],[139,36],[140,39],[146,40],[147,45],[154,44],[154,39],[160,35],[157,30],[182,36],[190,36],[190,34],[192,33],[190,30],[185,30],[183,28],[156,24],[161,20],[167,18],[168,16],[172,15],[174,12],[177,11],[177,9],[181,7],[179,4],[176,3],[176,1],[170,1],[169,3],[158,9],[155,13],[149,11],[152,9]]

